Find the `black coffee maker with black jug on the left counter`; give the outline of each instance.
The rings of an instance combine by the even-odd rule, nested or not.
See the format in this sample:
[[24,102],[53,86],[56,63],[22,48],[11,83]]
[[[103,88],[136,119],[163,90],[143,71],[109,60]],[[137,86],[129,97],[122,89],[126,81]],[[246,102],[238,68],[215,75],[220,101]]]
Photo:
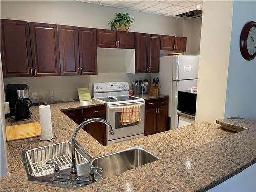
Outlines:
[[30,118],[32,101],[29,99],[29,87],[27,84],[8,84],[5,86],[6,102],[9,102],[10,115],[15,115],[16,120]]

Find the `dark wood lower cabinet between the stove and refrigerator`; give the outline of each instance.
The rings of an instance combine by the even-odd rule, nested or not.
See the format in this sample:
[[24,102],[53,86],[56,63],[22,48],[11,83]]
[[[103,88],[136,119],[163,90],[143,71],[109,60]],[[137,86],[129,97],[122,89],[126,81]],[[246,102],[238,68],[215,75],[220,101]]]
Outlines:
[[168,98],[145,102],[145,136],[167,131]]

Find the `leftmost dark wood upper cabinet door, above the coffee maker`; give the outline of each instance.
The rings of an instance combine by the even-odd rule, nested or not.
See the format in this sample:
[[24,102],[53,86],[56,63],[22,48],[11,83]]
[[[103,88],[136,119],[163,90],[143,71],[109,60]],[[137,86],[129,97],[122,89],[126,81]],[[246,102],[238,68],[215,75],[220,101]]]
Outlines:
[[33,76],[28,22],[1,19],[1,58],[4,77]]

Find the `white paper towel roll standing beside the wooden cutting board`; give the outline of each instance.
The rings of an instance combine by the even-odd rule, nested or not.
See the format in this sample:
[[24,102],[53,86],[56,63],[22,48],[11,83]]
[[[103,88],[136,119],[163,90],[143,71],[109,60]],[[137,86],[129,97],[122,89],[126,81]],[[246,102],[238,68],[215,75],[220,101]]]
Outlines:
[[39,106],[40,124],[41,124],[41,141],[52,139],[52,118],[50,105]]

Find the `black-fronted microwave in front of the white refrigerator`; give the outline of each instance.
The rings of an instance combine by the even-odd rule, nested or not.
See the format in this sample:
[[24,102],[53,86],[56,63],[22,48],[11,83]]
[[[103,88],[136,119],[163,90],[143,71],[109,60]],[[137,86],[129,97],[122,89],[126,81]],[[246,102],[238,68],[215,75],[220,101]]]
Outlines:
[[196,115],[197,94],[189,91],[178,91],[178,107],[181,112]]

